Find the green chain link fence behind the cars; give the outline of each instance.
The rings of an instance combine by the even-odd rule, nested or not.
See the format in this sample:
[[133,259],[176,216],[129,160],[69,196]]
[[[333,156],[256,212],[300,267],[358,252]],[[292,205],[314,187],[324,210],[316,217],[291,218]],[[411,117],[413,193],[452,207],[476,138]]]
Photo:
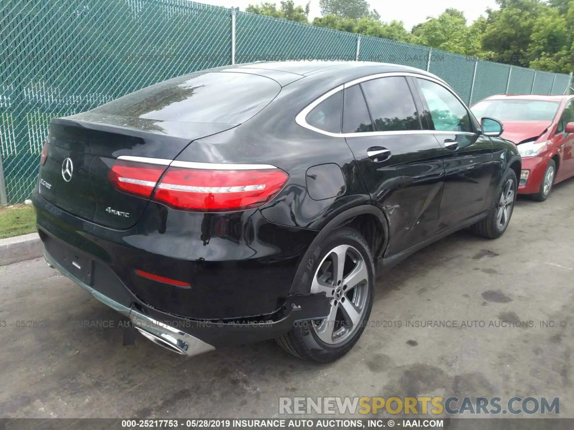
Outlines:
[[505,92],[563,94],[571,85],[568,75],[187,0],[3,0],[0,18],[0,204],[30,195],[51,118],[205,68],[393,62],[435,73],[468,103]]

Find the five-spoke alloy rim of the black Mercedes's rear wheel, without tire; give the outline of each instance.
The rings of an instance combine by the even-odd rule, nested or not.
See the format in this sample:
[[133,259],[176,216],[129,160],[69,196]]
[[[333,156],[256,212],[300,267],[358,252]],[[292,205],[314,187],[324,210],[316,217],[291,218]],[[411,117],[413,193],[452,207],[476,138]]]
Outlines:
[[320,292],[331,300],[331,311],[313,322],[313,330],[321,341],[335,345],[355,333],[367,307],[369,270],[357,249],[338,245],[327,253],[311,285],[311,293]]

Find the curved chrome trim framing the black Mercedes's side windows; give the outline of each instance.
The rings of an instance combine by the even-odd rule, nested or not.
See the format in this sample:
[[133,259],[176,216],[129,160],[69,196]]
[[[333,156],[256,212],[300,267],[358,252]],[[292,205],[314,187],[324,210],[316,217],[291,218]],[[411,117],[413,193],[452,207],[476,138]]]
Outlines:
[[356,84],[360,84],[373,79],[379,79],[382,77],[393,77],[393,76],[418,77],[420,79],[426,79],[436,84],[439,84],[444,88],[446,88],[449,92],[451,92],[452,95],[455,96],[456,99],[460,101],[460,103],[466,109],[468,115],[472,115],[466,103],[464,103],[464,101],[456,94],[456,92],[451,87],[449,87],[449,85],[442,79],[426,75],[420,75],[419,73],[412,73],[412,72],[386,72],[386,73],[376,73],[375,75],[359,77],[357,79],[344,83],[343,85],[339,85],[339,87],[331,89],[330,91],[317,97],[317,99],[313,100],[305,108],[303,108],[303,110],[299,112],[295,117],[295,122],[299,124],[301,127],[307,128],[308,130],[316,131],[317,133],[324,134],[325,136],[331,136],[333,138],[359,138],[364,136],[393,136],[402,134],[464,134],[472,136],[475,136],[477,134],[470,131],[441,131],[441,130],[393,130],[393,131],[364,131],[360,133],[333,133],[330,131],[321,130],[320,128],[317,127],[313,127],[310,124],[308,124],[307,121],[305,120],[309,112],[311,112],[319,103],[321,103],[321,101],[327,99],[328,97],[331,97],[333,94],[339,91],[343,91],[343,89],[350,88]]

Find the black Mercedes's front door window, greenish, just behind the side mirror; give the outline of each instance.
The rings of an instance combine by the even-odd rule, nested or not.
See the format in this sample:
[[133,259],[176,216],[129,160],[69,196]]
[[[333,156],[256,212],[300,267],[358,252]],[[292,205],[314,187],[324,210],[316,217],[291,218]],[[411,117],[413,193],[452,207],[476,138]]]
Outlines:
[[448,89],[432,81],[417,78],[426,99],[435,130],[472,132],[470,116]]

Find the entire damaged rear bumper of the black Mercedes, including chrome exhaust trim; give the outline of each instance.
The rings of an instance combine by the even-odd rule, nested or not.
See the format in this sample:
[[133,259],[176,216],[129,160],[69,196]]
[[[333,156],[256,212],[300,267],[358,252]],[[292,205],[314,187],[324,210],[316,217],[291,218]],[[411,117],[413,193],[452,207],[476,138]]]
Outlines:
[[272,224],[258,210],[182,213],[152,204],[133,228],[114,230],[57,208],[37,191],[32,200],[49,265],[179,354],[273,339],[299,320],[328,315],[324,294],[289,292],[313,230]]

